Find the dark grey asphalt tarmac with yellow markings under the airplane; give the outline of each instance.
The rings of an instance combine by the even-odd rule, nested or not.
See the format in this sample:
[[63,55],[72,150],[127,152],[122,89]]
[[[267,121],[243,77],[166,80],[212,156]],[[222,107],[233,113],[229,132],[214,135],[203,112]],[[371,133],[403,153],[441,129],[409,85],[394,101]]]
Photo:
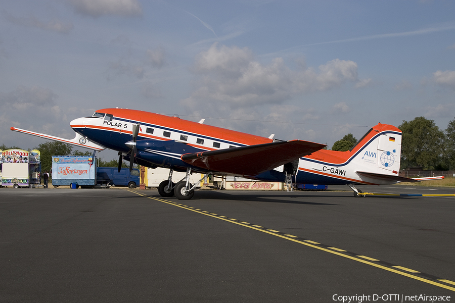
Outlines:
[[186,201],[112,188],[0,197],[2,303],[455,301],[453,196],[329,186]]

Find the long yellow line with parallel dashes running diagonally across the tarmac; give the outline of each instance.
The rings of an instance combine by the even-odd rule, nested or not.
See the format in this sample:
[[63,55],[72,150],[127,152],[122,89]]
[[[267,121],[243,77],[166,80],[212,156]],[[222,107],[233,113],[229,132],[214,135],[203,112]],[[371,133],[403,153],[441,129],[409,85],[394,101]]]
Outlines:
[[[156,201],[159,201],[159,202],[162,202],[162,203],[166,203],[166,204],[169,204],[169,205],[177,206],[177,205],[175,205],[175,204],[173,204],[173,203],[171,203],[169,201],[163,200],[163,199],[155,198],[155,197],[152,197],[152,196],[147,196],[147,195],[144,195],[144,194],[141,194],[139,192],[132,191],[132,190],[128,190],[128,191],[132,192],[132,193],[135,193],[135,194],[138,194],[138,195],[141,195],[141,196],[144,196],[144,197],[152,199],[152,200],[156,200]],[[254,225],[245,225],[245,224],[242,224],[240,222],[232,221],[232,220],[235,220],[235,219],[229,219],[228,220],[228,219],[220,218],[219,216],[212,216],[210,214],[204,214],[202,212],[199,212],[199,211],[196,211],[196,210],[192,210],[192,209],[189,209],[189,208],[186,208],[186,207],[181,207],[181,206],[177,206],[177,207],[185,209],[185,210],[188,210],[188,211],[191,211],[191,212],[195,212],[195,213],[198,213],[198,214],[201,214],[201,215],[209,216],[209,217],[212,217],[212,218],[215,218],[215,219],[218,219],[218,220],[223,220],[225,222],[230,222],[232,224],[237,224],[237,225],[240,225],[240,226],[251,228],[251,229],[254,229],[256,231],[260,231],[260,232],[263,232],[263,233],[266,233],[266,234],[270,234],[270,235],[273,235],[273,236],[276,236],[276,237],[280,237],[282,239],[285,239],[285,240],[288,240],[288,241],[292,241],[292,242],[295,242],[295,243],[299,243],[299,244],[302,244],[302,245],[305,245],[305,246],[308,246],[308,247],[311,247],[311,248],[314,248],[314,249],[319,249],[319,250],[322,250],[322,251],[325,251],[325,252],[329,252],[330,254],[333,254],[333,255],[336,255],[336,256],[339,256],[339,257],[343,257],[343,258],[346,258],[346,259],[349,259],[349,260],[357,261],[357,262],[360,262],[360,263],[363,263],[363,264],[367,264],[367,265],[370,265],[370,266],[373,266],[373,267],[376,267],[376,268],[379,268],[379,269],[382,269],[382,270],[385,270],[385,271],[388,271],[388,272],[392,272],[392,273],[395,273],[395,274],[398,274],[398,275],[401,275],[401,276],[404,276],[404,277],[408,277],[408,278],[411,278],[411,279],[414,279],[414,280],[418,280],[418,281],[421,281],[421,282],[424,282],[424,283],[428,283],[428,284],[431,284],[431,285],[434,285],[434,286],[438,286],[438,287],[445,288],[445,289],[448,289],[448,290],[451,290],[451,291],[455,291],[455,287],[447,286],[447,285],[444,285],[444,284],[441,284],[441,283],[438,283],[438,282],[435,282],[435,281],[432,281],[432,280],[429,280],[429,279],[421,278],[419,276],[415,276],[415,275],[411,275],[411,274],[408,274],[408,273],[405,273],[405,272],[402,272],[402,271],[398,271],[396,269],[393,269],[393,268],[390,268],[390,267],[386,267],[384,265],[376,264],[376,263],[373,263],[373,262],[368,261],[368,260],[363,260],[363,259],[359,259],[359,258],[352,257],[352,256],[349,256],[349,255],[345,255],[345,254],[342,254],[339,251],[334,251],[334,250],[331,250],[331,249],[328,249],[328,248],[325,248],[325,247],[320,247],[320,246],[316,246],[316,245],[313,245],[313,244],[310,244],[310,243],[306,243],[304,241],[300,241],[298,239],[292,238],[293,237],[292,235],[283,235],[281,233],[272,233],[270,231],[257,228]],[[235,220],[235,221],[238,221],[238,220]],[[317,243],[317,242],[315,242],[315,243]],[[398,267],[398,268],[401,268],[401,267]],[[443,280],[443,281],[448,281],[448,280]],[[450,282],[449,284],[453,283],[451,281],[449,281],[449,282]],[[447,282],[445,282],[445,283],[447,283]]]

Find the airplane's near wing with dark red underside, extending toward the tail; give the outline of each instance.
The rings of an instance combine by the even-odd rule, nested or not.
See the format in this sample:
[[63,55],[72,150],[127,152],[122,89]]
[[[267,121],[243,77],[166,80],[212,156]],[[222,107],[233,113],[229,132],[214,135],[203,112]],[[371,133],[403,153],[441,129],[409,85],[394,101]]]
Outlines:
[[185,154],[181,160],[207,171],[256,176],[325,146],[302,140],[280,141]]

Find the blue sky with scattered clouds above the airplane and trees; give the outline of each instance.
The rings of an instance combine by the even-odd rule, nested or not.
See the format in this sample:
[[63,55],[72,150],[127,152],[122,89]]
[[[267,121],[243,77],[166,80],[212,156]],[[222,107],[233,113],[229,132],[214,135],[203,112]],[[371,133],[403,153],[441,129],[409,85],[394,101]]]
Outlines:
[[2,0],[0,144],[115,107],[329,148],[379,122],[445,130],[455,2]]

